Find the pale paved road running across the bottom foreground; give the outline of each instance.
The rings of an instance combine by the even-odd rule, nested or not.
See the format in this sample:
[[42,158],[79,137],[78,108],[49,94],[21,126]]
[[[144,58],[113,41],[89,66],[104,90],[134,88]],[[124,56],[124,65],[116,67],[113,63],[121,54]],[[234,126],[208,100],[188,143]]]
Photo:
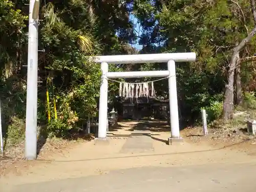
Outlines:
[[[34,183],[13,187],[11,192],[155,192],[232,191],[250,192],[256,188],[256,162],[208,164],[182,167],[142,167],[109,174]],[[3,189],[3,186],[1,186]]]

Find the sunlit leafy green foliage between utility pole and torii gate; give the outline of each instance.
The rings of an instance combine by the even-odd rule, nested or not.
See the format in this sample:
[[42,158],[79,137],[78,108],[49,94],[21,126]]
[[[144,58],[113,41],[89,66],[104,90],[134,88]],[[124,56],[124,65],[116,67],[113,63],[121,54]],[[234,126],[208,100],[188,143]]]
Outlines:
[[[46,58],[49,63],[46,69],[51,74],[48,82],[51,84],[50,96],[56,98],[57,105],[57,119],[52,115],[48,131],[51,135],[63,137],[70,130],[77,129],[78,121],[95,115],[101,73],[100,66],[89,62],[86,57],[99,51],[97,42],[88,35],[89,31],[68,26],[65,18],[61,18],[61,12],[54,10],[54,5],[49,3],[45,12],[46,25],[41,34],[43,43],[55,50]],[[61,73],[50,72],[54,70]],[[63,73],[69,78],[63,78]],[[51,114],[54,114],[53,106]]]

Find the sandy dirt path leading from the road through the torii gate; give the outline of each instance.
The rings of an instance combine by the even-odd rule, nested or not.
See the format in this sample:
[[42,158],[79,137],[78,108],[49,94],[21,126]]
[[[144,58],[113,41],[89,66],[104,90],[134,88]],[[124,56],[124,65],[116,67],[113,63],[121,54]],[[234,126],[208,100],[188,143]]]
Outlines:
[[[221,148],[220,145],[214,146],[205,142],[193,143],[186,138],[182,144],[166,145],[165,142],[169,136],[167,125],[165,126],[163,123],[162,126],[159,126],[159,122],[157,123],[144,121],[119,123],[116,129],[111,130],[109,145],[94,145],[93,141],[84,142],[74,145],[62,153],[41,157],[37,161],[29,163],[31,165],[29,168],[27,166],[23,168],[22,165],[19,165],[18,173],[9,173],[2,177],[0,185],[5,186],[7,190],[12,188],[14,184],[104,175],[113,170],[137,167],[180,167],[215,163],[256,162],[256,156],[253,153],[248,155],[248,150],[234,150],[235,145]],[[152,145],[150,146],[153,150],[139,151],[138,153],[130,150],[124,153],[123,146],[126,146],[125,143],[129,138],[131,139],[131,133],[134,130],[140,131],[141,127],[144,127],[143,129],[150,127],[147,130],[151,132],[150,142]]]

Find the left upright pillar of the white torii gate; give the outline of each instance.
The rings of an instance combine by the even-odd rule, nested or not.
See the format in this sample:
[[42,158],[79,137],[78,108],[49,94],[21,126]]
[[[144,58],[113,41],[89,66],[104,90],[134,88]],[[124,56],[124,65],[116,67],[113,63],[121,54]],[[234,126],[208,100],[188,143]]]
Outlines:
[[106,128],[108,124],[108,79],[106,73],[109,71],[109,65],[106,62],[101,63],[102,82],[100,86],[99,96],[99,125],[98,125],[98,138],[106,138]]

